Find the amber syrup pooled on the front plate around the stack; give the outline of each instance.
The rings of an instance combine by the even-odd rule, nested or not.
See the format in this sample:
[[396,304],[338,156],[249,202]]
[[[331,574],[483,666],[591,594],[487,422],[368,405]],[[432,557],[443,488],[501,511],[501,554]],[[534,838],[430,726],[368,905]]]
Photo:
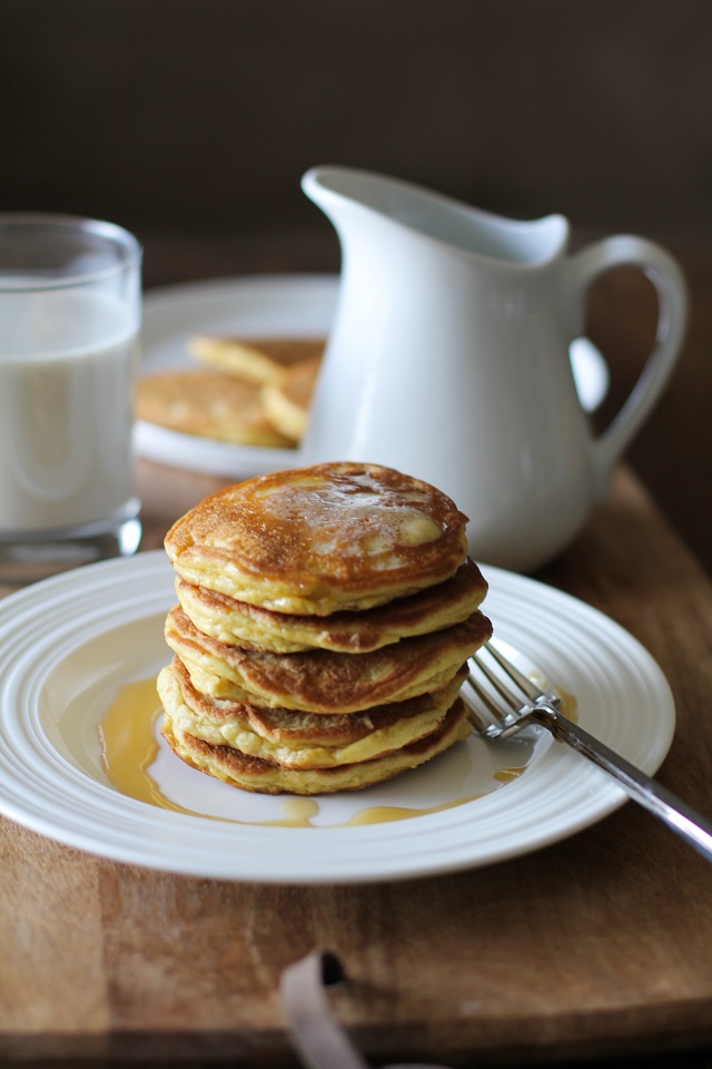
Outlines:
[[[101,717],[99,723],[101,764],[110,782],[121,794],[139,802],[146,802],[149,805],[231,824],[253,824],[260,827],[319,826],[313,823],[319,814],[319,804],[314,798],[286,798],[279,804],[281,817],[274,821],[240,821],[235,817],[212,816],[172,802],[162,793],[150,774],[150,766],[158,754],[156,723],[161,715],[162,709],[156,690],[156,679],[150,678],[122,686]],[[524,772],[523,767],[501,768],[495,772],[494,778],[502,783],[508,783],[522,772]],[[424,808],[399,805],[366,806],[354,813],[343,824],[330,826],[348,827],[405,821],[428,813],[441,813],[444,810],[474,802],[478,797],[482,797],[482,795],[473,794],[456,798],[454,802],[445,802],[442,805]]]

